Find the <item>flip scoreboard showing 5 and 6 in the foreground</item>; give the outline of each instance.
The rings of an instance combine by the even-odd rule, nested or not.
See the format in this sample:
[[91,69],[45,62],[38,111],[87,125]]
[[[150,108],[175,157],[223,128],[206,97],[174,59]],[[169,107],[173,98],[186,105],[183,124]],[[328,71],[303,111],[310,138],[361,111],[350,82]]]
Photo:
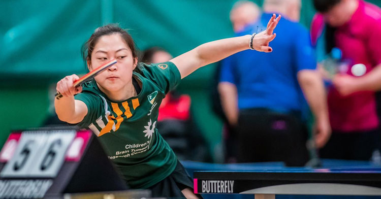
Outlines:
[[14,131],[0,152],[0,198],[126,189],[90,130]]

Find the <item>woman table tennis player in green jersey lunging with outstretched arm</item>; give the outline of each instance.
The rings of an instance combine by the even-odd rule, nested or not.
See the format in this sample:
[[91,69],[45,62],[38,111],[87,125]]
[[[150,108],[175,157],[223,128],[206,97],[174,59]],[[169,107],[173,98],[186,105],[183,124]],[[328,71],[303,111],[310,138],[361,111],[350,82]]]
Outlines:
[[268,45],[280,20],[275,17],[257,35],[205,43],[150,65],[138,63],[128,32],[116,25],[99,27],[84,44],[87,67],[91,71],[112,59],[117,63],[82,87],[73,87],[77,75],[61,79],[56,89],[63,97],[54,102],[58,118],[91,129],[131,188],[150,189],[154,197],[197,197],[193,180],[158,133],[158,107],[182,78],[204,65],[250,48],[271,52]]

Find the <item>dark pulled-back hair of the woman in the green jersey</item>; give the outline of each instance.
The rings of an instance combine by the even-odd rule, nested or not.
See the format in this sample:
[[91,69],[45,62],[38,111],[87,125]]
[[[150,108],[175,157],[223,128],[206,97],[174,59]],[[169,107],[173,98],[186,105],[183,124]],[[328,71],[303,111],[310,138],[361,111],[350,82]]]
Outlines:
[[112,34],[119,34],[132,51],[132,56],[134,58],[138,57],[137,47],[135,46],[135,42],[131,35],[126,30],[119,27],[118,24],[108,24],[97,28],[87,42],[83,44],[81,49],[83,60],[91,63],[91,53],[94,50],[94,46],[96,46],[98,40],[102,36]]

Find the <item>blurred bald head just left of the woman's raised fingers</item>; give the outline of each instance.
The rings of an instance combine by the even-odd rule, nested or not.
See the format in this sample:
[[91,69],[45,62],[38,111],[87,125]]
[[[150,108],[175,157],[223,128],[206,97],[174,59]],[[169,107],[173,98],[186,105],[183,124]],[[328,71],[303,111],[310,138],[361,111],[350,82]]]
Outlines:
[[260,14],[257,4],[249,1],[236,2],[230,11],[230,21],[233,25],[233,30],[239,32],[243,28],[257,21]]

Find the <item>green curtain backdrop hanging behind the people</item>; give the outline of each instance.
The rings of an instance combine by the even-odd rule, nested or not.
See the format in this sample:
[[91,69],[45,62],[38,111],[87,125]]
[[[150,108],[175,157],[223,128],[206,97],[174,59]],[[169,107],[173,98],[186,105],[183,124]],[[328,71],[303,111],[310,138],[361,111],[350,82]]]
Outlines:
[[[94,29],[119,23],[138,48],[161,46],[176,56],[202,43],[233,36],[229,11],[236,0],[62,0],[0,1],[0,145],[11,129],[37,127],[47,116],[48,86],[85,73],[81,45]],[[253,1],[260,6],[261,0]],[[380,6],[377,0],[370,1]],[[302,1],[301,23],[314,15]],[[214,65],[185,78],[179,90],[219,161],[221,121],[211,111]]]

